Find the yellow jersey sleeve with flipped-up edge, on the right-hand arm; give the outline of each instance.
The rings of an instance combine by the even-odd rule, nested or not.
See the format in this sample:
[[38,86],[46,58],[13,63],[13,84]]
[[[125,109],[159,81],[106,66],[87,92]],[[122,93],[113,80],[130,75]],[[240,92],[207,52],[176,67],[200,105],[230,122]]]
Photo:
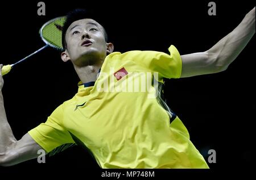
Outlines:
[[162,78],[180,78],[182,61],[174,45],[168,48],[170,55],[158,51],[135,51],[134,61]]

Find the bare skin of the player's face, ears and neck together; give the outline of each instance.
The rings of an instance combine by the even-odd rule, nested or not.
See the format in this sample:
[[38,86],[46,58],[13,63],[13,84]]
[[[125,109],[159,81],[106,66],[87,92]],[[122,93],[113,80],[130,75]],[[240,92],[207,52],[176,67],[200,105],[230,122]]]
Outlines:
[[[105,57],[114,50],[112,43],[106,43],[101,25],[93,19],[77,20],[69,26],[65,39],[67,49],[61,53],[61,59],[72,62],[83,83],[96,81]],[[92,45],[82,46],[85,40],[92,41]]]

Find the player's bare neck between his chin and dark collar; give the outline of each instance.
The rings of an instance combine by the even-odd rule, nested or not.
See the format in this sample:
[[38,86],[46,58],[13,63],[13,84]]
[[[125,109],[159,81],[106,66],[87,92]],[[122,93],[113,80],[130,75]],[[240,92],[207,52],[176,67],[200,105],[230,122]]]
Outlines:
[[103,64],[103,61],[99,64],[82,66],[82,67],[78,67],[74,65],[74,68],[80,80],[82,81],[82,83],[86,83],[86,82],[96,81],[98,71],[100,70],[102,64]]

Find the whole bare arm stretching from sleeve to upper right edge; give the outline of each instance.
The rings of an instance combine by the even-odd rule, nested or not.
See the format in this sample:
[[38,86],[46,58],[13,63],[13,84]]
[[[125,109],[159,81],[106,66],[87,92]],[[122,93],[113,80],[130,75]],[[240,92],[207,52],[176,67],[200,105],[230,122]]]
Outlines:
[[255,7],[228,35],[205,52],[181,56],[181,77],[222,72],[227,69],[255,34]]

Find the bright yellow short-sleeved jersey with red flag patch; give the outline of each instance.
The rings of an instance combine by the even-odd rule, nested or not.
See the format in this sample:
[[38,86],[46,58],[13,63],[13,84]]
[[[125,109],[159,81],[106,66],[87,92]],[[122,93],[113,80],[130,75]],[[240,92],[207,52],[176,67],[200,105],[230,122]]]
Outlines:
[[76,143],[101,168],[208,168],[187,128],[162,98],[164,78],[179,78],[181,57],[156,51],[113,52],[96,82],[79,90],[28,133],[47,152]]

